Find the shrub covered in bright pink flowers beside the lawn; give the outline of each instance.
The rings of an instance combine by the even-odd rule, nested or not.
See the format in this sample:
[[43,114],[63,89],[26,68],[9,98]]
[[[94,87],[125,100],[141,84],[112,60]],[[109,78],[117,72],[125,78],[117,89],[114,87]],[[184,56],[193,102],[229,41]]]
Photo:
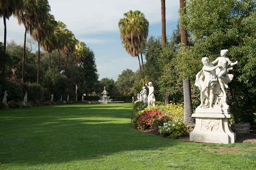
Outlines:
[[171,119],[172,117],[168,114],[162,114],[161,110],[147,107],[138,114],[136,123],[138,130],[149,128],[150,132],[152,132],[157,131],[158,126]]

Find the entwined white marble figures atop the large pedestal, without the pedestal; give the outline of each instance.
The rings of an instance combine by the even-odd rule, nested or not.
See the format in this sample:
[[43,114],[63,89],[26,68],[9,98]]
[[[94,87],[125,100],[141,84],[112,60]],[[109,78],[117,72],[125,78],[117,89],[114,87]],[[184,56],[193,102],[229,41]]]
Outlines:
[[[221,50],[221,57],[218,57],[211,63],[209,63],[207,57],[202,58],[203,68],[196,75],[195,81],[195,85],[199,87],[201,91],[201,104],[198,107],[228,108],[225,88],[228,88],[228,83],[230,83],[234,77],[232,74],[228,74],[228,72],[232,70],[233,66],[238,62],[232,63],[230,59],[226,57],[227,53],[228,50]],[[214,66],[216,63],[217,65]]]

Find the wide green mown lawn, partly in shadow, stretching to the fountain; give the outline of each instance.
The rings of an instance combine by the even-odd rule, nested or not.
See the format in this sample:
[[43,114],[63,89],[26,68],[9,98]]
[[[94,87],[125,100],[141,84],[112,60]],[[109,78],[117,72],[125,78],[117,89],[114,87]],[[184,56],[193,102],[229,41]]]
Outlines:
[[131,128],[132,104],[0,110],[0,169],[256,169],[256,145],[181,142]]

